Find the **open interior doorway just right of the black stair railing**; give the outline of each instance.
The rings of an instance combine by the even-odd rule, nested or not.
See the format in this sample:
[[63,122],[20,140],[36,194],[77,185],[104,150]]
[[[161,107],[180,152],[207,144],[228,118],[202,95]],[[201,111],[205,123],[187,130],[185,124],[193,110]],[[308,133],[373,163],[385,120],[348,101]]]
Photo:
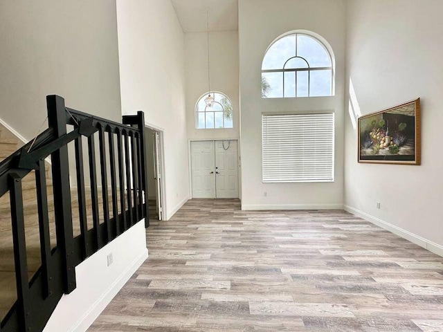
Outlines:
[[163,132],[146,127],[147,204],[150,219],[162,220],[163,190]]

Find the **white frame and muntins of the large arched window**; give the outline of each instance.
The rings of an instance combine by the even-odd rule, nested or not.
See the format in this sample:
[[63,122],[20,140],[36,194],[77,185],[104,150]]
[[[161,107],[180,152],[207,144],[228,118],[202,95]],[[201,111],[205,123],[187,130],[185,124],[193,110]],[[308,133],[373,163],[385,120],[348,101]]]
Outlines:
[[[323,47],[323,49],[326,51],[327,55],[329,55],[329,60],[331,62],[331,66],[323,66],[323,67],[311,67],[309,65],[309,62],[307,61],[307,59],[305,59],[304,57],[299,57],[298,54],[298,35],[302,35],[302,36],[307,36],[309,38],[314,39],[316,42],[318,42],[318,44],[320,44],[320,46]],[[278,68],[278,69],[263,69],[263,61],[264,58],[266,57],[266,54],[268,53],[268,51],[271,49],[271,47],[278,42],[280,39],[284,38],[284,37],[288,37],[288,36],[295,36],[296,38],[296,55],[293,57],[289,57],[289,59],[287,59],[282,68]],[[286,66],[286,64],[291,60],[291,59],[302,59],[307,63],[307,68],[284,68]],[[291,32],[291,33],[287,33],[284,34],[280,37],[278,37],[277,39],[275,39],[271,45],[269,45],[269,47],[266,49],[266,52],[264,53],[263,56],[263,60],[262,60],[262,77],[263,77],[263,73],[282,73],[282,97],[271,97],[271,99],[273,98],[313,98],[313,97],[317,97],[317,96],[311,96],[310,95],[310,90],[311,90],[311,71],[331,71],[331,86],[329,89],[329,95],[325,95],[325,96],[320,96],[320,97],[331,97],[334,95],[334,87],[335,87],[335,73],[334,73],[334,57],[333,57],[333,53],[332,51],[329,51],[329,49],[327,48],[327,46],[325,45],[324,42],[322,42],[318,37],[311,35],[307,32]],[[297,92],[297,80],[298,80],[298,72],[303,72],[303,71],[307,71],[308,73],[308,78],[307,78],[307,96],[298,96],[298,92]],[[293,73],[295,72],[296,75],[296,83],[295,83],[295,97],[286,97],[284,95],[284,80],[285,80],[285,73]],[[263,97],[262,98],[266,99],[267,97]]]

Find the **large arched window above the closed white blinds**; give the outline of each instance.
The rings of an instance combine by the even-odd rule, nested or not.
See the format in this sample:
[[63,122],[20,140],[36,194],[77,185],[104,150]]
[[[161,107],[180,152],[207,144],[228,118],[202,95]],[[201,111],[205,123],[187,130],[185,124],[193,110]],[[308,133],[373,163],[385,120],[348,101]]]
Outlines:
[[326,46],[305,33],[275,40],[262,62],[262,98],[333,95],[334,64]]

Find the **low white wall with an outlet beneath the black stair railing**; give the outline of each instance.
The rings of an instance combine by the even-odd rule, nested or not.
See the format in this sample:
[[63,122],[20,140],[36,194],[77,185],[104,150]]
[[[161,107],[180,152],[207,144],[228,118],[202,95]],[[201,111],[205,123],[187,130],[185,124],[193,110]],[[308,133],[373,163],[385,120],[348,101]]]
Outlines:
[[[107,255],[114,262],[107,266]],[[63,295],[44,332],[84,332],[147,259],[145,219],[75,268],[77,288]]]

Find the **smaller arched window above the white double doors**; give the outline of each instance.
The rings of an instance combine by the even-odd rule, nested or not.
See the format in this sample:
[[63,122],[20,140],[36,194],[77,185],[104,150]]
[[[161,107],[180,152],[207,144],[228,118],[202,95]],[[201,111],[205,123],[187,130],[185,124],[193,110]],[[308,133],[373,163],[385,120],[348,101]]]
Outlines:
[[[206,106],[205,99],[211,94],[214,102]],[[233,103],[220,92],[205,93],[195,105],[197,129],[233,128]]]

